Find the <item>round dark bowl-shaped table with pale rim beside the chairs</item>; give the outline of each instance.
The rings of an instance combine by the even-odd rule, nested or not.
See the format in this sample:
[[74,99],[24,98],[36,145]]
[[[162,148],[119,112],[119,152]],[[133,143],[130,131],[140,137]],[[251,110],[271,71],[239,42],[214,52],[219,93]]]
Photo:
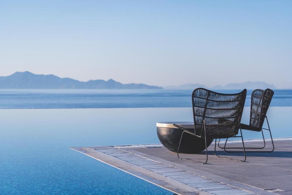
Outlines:
[[[194,132],[194,122],[157,122],[157,136],[164,147],[172,152],[178,151],[180,137],[183,130],[173,126],[179,125],[190,132]],[[213,139],[207,139],[207,147],[210,146]],[[206,149],[205,138],[200,138],[189,133],[184,133],[180,144],[180,153],[195,154]]]

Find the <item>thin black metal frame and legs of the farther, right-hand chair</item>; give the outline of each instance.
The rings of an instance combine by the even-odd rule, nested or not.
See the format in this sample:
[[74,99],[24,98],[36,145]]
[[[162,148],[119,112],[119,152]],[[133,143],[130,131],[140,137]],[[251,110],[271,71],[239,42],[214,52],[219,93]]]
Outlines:
[[[255,91],[257,91],[257,90],[260,90],[260,89],[256,89],[256,90],[254,90],[253,93],[254,93]],[[266,92],[267,90],[272,91],[271,89],[266,89],[265,91],[260,90],[260,91],[262,91],[261,101],[263,101],[263,97],[264,97],[265,92]],[[252,97],[251,97],[251,98],[253,98],[253,93],[252,93]],[[274,94],[273,91],[272,91],[272,93]],[[272,97],[271,97],[271,99],[272,99]],[[271,100],[270,100],[270,101],[271,101]],[[252,109],[252,104],[253,104],[253,99],[251,99],[251,109]],[[269,105],[270,105],[270,102],[269,102]],[[269,105],[268,105],[268,107],[269,107]],[[261,105],[261,106],[262,106],[262,105]],[[261,110],[262,110],[262,109],[261,109]],[[268,110],[268,108],[267,108],[267,110]],[[266,112],[267,112],[267,110],[266,110]],[[266,114],[266,112],[265,112],[265,114]],[[259,117],[259,119],[260,119],[260,117]],[[264,120],[265,120],[265,119],[266,119],[266,121],[267,121],[268,129],[267,129],[267,128],[263,128],[263,127],[261,127],[261,130],[260,130],[260,131],[262,132],[262,135],[263,135],[264,146],[263,146],[263,147],[246,147],[245,149],[264,149],[264,148],[265,148],[265,146],[266,146],[266,142],[265,142],[265,137],[264,137],[264,133],[263,133],[263,129],[264,129],[264,130],[268,130],[268,131],[270,132],[270,136],[271,136],[271,141],[272,141],[273,149],[272,149],[271,151],[260,151],[260,152],[272,152],[272,151],[274,151],[275,146],[274,146],[273,137],[272,137],[272,133],[271,133],[271,129],[270,129],[270,125],[269,125],[269,121],[268,121],[267,115],[265,115]],[[262,126],[263,126],[263,125],[262,125]],[[224,147],[221,147],[221,146],[219,145],[219,143],[220,143],[220,139],[219,139],[219,141],[218,141],[218,147],[221,148],[221,149],[224,149],[226,152],[238,152],[238,151],[227,151],[226,149],[243,149],[242,147],[226,147],[227,140],[228,140],[228,138],[227,138],[226,141],[225,141]],[[259,151],[249,151],[249,150],[248,150],[248,151],[246,151],[246,152],[259,152]]]

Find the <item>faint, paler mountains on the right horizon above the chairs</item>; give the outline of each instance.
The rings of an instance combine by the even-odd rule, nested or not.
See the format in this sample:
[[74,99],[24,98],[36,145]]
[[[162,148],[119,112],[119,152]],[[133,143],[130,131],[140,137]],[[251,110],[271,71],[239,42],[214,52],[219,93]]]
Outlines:
[[265,82],[252,82],[247,81],[243,83],[230,83],[225,86],[216,85],[215,87],[209,88],[202,84],[183,84],[178,86],[166,86],[164,89],[196,89],[196,88],[207,88],[207,89],[217,89],[217,90],[232,90],[232,89],[276,89],[273,84],[267,84]]

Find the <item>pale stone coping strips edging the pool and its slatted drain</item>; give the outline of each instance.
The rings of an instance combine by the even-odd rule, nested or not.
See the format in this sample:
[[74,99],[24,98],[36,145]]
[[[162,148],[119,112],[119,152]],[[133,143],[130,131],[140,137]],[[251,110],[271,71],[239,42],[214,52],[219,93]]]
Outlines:
[[[273,139],[273,141],[284,141],[284,140],[292,140],[292,138],[289,137],[289,138],[275,138],[275,139]],[[251,139],[251,140],[246,140],[246,141],[247,142],[260,142],[260,141],[263,141],[263,139]],[[265,141],[269,142],[269,141],[271,141],[271,139],[265,139]],[[230,141],[230,143],[237,143],[237,142],[238,142],[237,140]],[[70,149],[73,149],[75,151],[83,153],[83,154],[90,156],[98,161],[106,163],[110,166],[113,166],[113,167],[119,169],[119,170],[127,172],[131,175],[134,175],[140,179],[143,179],[147,182],[155,184],[159,187],[167,189],[167,190],[169,190],[173,193],[176,193],[176,194],[209,194],[209,193],[206,191],[200,190],[198,188],[191,187],[187,184],[178,182],[176,180],[170,179],[170,178],[165,177],[163,175],[157,174],[157,173],[152,172],[150,170],[147,170],[145,168],[141,168],[141,167],[136,166],[134,164],[128,163],[126,161],[123,161],[119,158],[116,158],[114,156],[110,156],[110,155],[108,155],[104,152],[100,152],[100,151],[102,151],[104,149],[116,148],[116,149],[119,149],[121,151],[125,151],[125,152],[131,153],[131,154],[134,154],[134,155],[146,158],[146,159],[150,159],[152,161],[156,161],[156,162],[163,163],[165,165],[169,165],[169,166],[181,169],[181,170],[185,170],[187,172],[190,172],[190,173],[193,173],[196,175],[200,175],[202,177],[206,177],[208,179],[215,180],[215,181],[227,184],[229,186],[233,186],[233,187],[236,187],[239,189],[253,192],[255,194],[274,194],[270,191],[260,189],[260,188],[254,187],[254,186],[250,186],[248,184],[243,184],[240,182],[229,180],[227,178],[224,178],[224,177],[221,177],[218,175],[213,175],[211,173],[204,172],[202,170],[193,169],[193,168],[187,167],[185,165],[181,165],[178,163],[167,161],[167,160],[164,160],[162,158],[157,158],[155,156],[147,155],[145,153],[141,153],[139,151],[133,150],[133,148],[135,148],[135,147],[139,147],[139,146],[144,147],[145,145],[156,145],[156,144],[70,147]],[[134,146],[134,147],[132,147],[132,146]],[[163,146],[159,146],[159,147],[163,147]],[[98,150],[100,150],[100,151],[98,151]]]

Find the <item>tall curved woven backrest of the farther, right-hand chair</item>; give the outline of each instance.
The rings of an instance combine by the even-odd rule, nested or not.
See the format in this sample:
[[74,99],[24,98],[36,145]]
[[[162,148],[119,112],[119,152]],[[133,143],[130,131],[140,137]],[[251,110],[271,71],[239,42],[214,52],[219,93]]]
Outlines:
[[252,127],[262,128],[270,106],[274,92],[271,89],[265,91],[256,89],[251,94],[251,115],[249,125]]

